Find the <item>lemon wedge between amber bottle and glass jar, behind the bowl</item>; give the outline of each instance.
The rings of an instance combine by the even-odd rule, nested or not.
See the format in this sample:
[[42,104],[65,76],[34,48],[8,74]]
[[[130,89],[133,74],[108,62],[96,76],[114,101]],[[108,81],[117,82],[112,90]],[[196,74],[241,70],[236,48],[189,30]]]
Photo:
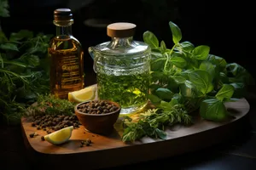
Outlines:
[[94,99],[96,95],[96,86],[89,86],[78,91],[68,93],[68,100],[75,103],[81,103]]

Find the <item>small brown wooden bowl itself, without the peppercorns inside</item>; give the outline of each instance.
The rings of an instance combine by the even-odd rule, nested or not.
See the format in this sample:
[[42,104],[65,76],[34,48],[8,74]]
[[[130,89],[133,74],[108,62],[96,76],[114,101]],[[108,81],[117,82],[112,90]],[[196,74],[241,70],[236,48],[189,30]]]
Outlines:
[[109,112],[109,113],[102,113],[102,114],[90,114],[90,113],[84,113],[82,111],[79,111],[79,105],[83,105],[84,103],[89,103],[91,102],[91,100],[79,103],[74,108],[75,114],[78,117],[79,122],[81,122],[85,130],[89,131],[90,133],[108,134],[113,131],[113,124],[117,121],[119,117],[121,106],[118,103],[113,101],[109,101],[109,100],[104,100],[104,101],[108,101],[109,103],[117,106],[118,110]]

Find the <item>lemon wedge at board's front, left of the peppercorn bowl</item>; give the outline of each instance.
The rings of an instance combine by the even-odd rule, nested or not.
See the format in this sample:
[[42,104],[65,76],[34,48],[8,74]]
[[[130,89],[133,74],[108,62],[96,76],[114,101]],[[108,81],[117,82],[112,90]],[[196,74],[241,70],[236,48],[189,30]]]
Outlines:
[[63,144],[70,139],[73,132],[73,126],[61,128],[54,133],[49,133],[44,136],[44,139],[50,144]]

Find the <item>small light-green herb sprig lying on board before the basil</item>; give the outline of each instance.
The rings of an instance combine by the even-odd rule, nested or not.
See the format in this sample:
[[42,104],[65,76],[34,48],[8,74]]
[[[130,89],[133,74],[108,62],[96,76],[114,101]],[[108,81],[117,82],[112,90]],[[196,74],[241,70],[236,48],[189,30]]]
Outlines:
[[157,109],[149,109],[142,113],[137,122],[132,122],[131,117],[124,118],[123,142],[134,142],[144,136],[154,139],[166,139],[166,126],[177,123],[189,125],[192,117],[188,115],[183,105],[172,99],[171,103],[163,102]]

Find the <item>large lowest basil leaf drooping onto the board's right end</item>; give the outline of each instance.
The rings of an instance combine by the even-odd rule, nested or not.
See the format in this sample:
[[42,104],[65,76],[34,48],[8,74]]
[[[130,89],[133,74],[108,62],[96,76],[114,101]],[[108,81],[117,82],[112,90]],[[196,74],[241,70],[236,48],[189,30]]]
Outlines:
[[202,118],[213,122],[224,122],[230,117],[224,103],[218,99],[203,100],[200,115]]

